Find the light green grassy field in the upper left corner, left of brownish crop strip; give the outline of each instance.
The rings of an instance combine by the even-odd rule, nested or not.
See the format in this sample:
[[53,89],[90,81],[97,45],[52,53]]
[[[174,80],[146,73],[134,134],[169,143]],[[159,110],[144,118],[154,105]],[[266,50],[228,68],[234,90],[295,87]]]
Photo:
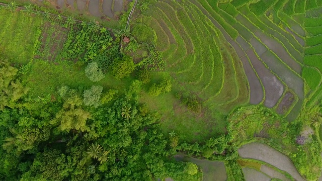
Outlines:
[[33,59],[43,20],[20,11],[0,9],[0,51],[19,65]]

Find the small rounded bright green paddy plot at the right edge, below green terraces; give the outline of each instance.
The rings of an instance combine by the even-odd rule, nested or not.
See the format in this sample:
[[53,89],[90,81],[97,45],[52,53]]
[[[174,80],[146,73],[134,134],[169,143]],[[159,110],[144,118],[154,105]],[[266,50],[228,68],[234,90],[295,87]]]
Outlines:
[[302,77],[307,82],[308,86],[313,90],[317,87],[321,80],[321,74],[312,67],[304,67],[302,69]]

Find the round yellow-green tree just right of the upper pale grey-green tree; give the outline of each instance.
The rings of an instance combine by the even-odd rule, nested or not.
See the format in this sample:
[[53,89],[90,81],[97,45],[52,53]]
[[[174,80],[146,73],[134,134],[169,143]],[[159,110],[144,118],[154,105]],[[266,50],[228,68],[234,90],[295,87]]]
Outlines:
[[133,58],[127,55],[124,55],[122,59],[115,59],[110,67],[112,75],[117,79],[123,79],[129,76],[133,70]]

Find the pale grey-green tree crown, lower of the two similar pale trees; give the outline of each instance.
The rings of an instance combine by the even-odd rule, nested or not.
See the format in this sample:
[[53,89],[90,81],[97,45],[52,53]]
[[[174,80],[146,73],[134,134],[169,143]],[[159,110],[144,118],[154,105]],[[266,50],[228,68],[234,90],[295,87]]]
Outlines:
[[91,89],[87,89],[84,91],[84,105],[85,106],[93,106],[97,108],[101,105],[100,98],[103,91],[103,87],[101,85],[93,85]]

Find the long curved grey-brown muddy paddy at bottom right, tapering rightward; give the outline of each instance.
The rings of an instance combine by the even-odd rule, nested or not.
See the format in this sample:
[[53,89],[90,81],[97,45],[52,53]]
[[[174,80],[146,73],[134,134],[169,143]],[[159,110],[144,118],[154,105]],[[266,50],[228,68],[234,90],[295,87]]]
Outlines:
[[243,158],[261,160],[284,170],[297,181],[305,181],[289,157],[267,144],[257,142],[245,144],[238,149],[238,153]]

